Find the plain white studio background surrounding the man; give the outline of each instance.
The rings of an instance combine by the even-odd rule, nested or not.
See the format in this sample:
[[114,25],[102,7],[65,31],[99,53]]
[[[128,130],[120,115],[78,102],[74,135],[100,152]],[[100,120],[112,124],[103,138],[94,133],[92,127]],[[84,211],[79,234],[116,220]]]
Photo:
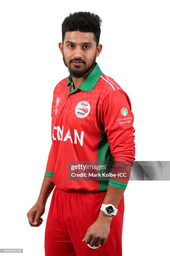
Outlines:
[[[51,147],[56,84],[69,75],[58,48],[63,19],[90,11],[102,19],[97,62],[128,94],[136,160],[169,158],[169,1],[0,1],[0,248],[44,255],[43,224],[28,223]],[[169,255],[169,181],[129,181],[123,256]],[[32,252],[34,250],[34,252]],[[97,249],[96,249],[97,250]]]

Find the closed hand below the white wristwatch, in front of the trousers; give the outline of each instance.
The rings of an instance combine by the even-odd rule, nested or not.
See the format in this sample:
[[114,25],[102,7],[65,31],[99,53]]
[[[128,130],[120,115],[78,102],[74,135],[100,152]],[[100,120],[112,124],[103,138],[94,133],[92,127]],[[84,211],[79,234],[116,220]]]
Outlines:
[[97,219],[87,230],[84,239],[86,244],[90,246],[98,247],[100,244],[105,244],[108,235],[110,233],[110,221],[104,221],[102,219]]

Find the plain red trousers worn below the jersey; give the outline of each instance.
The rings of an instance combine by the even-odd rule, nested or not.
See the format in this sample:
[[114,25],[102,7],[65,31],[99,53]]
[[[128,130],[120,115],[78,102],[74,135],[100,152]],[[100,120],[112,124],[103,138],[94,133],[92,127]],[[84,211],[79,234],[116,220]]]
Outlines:
[[82,242],[98,218],[105,194],[106,191],[66,192],[55,187],[46,222],[45,256],[122,256],[124,196],[117,215],[113,216],[105,244],[92,249]]

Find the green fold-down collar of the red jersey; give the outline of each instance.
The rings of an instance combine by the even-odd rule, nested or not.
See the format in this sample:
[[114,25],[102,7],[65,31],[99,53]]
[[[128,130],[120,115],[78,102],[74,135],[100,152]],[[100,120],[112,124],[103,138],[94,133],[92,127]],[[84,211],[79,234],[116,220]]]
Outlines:
[[[82,82],[82,84],[78,88],[85,92],[91,92],[95,87],[96,83],[98,82],[102,73],[103,72],[100,70],[98,63],[96,62],[94,68],[90,71],[90,73],[86,76],[85,80]],[[66,83],[65,86],[69,85],[70,83],[72,85],[71,87],[72,90],[70,90],[70,92],[72,92],[74,91],[74,89],[73,89],[73,81],[72,81],[71,75],[69,75],[68,82]]]

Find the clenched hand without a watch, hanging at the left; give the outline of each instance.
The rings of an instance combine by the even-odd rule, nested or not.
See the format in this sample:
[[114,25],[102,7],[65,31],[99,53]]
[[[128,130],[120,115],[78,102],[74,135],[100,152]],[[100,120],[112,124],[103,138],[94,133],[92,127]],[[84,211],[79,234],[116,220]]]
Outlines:
[[41,216],[45,212],[45,205],[43,203],[37,202],[34,206],[28,211],[27,217],[30,226],[38,227],[42,224],[43,219]]

